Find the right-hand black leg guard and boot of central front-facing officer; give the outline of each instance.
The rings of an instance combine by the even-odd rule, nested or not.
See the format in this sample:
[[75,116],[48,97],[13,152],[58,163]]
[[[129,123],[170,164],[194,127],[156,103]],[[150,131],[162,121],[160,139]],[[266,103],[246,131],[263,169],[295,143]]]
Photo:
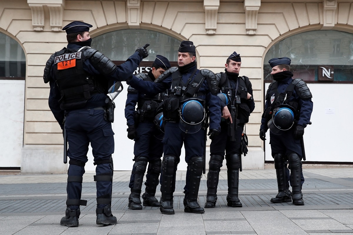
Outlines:
[[[189,176],[189,193],[185,195],[184,198],[184,211],[201,214],[205,210],[200,207],[200,204],[197,201],[198,191],[200,187],[200,180],[203,171],[203,157],[192,157],[188,164],[190,169]],[[186,179],[188,180],[188,179]]]

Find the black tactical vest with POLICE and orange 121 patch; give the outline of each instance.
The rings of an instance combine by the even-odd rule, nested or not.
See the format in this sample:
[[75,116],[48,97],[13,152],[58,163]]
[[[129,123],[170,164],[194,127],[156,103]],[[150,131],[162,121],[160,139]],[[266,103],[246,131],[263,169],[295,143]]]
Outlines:
[[61,109],[82,108],[92,95],[108,93],[107,79],[94,78],[84,71],[83,51],[64,48],[54,54],[54,77],[61,94]]

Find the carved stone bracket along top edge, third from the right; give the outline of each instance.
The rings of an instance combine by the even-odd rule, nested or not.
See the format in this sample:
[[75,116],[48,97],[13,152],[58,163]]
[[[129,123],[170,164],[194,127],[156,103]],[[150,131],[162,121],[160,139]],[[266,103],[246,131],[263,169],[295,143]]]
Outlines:
[[217,13],[218,13],[219,6],[220,6],[219,0],[203,1],[203,8],[205,9],[206,34],[216,34]]

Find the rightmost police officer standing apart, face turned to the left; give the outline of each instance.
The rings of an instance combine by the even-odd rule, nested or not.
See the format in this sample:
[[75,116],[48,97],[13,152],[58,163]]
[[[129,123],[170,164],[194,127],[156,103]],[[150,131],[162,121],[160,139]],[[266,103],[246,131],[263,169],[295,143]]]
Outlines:
[[[301,193],[301,159],[304,128],[310,121],[313,103],[312,95],[302,79],[292,79],[293,73],[287,57],[269,60],[274,81],[266,92],[265,110],[261,119],[260,138],[265,140],[270,128],[271,153],[275,162],[278,194],[271,201],[274,203],[290,202],[304,205]],[[277,120],[277,117],[283,119]],[[286,116],[287,115],[287,116]],[[294,121],[290,119],[292,118]],[[291,120],[288,123],[279,121]],[[294,125],[293,125],[294,123]],[[293,125],[293,126],[291,126]],[[286,128],[285,128],[286,127]],[[286,162],[291,170],[292,193],[286,190]]]

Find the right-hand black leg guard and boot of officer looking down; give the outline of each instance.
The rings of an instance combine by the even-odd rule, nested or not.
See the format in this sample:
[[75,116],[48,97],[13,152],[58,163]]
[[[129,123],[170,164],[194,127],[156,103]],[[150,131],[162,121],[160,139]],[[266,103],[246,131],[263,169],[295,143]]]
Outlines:
[[160,206],[157,198],[155,197],[156,188],[159,183],[159,175],[161,173],[162,160],[160,158],[153,159],[148,163],[147,175],[148,180],[146,180],[146,190],[142,195],[144,206]]

